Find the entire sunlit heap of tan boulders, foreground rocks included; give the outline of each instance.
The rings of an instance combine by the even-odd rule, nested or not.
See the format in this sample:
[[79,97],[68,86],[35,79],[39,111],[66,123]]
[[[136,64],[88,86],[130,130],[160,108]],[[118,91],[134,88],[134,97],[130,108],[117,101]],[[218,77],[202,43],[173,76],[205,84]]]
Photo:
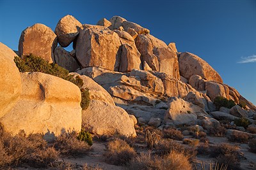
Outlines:
[[[64,48],[71,43],[73,50],[68,52]],[[6,97],[1,97],[0,122],[13,133],[25,129],[60,134],[60,129],[82,127],[95,134],[136,136],[137,120],[159,128],[202,125],[205,129],[223,119],[244,117],[255,121],[256,106],[225,85],[205,60],[193,53],[178,52],[175,43],[166,45],[148,29],[122,17],[102,18],[97,25],[89,25],[67,15],[54,32],[46,25],[35,24],[20,36],[20,56],[33,53],[83,79],[91,98],[87,110],[79,108],[81,97],[75,85],[43,73],[19,73],[12,62],[15,53],[3,49],[8,47],[1,44],[1,58],[6,58],[13,69],[4,72],[1,66],[1,84],[10,89],[17,81],[17,86],[11,91],[1,87],[1,96]],[[213,101],[218,96],[236,104],[243,102],[246,110],[238,105],[216,110]],[[65,125],[45,123],[55,121],[63,111],[70,113],[58,120]],[[71,116],[72,121],[68,121]],[[36,127],[32,117],[42,124]],[[72,125],[73,118],[77,126]]]

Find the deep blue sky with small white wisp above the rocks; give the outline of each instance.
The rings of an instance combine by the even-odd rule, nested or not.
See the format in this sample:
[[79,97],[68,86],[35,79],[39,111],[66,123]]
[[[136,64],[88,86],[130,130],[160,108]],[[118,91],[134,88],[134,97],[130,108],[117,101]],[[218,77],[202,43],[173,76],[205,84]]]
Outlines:
[[[119,15],[150,29],[179,52],[206,60],[246,99],[256,104],[256,1],[1,1],[0,41],[18,49],[20,33],[35,23],[54,31],[73,15],[82,24]],[[67,48],[70,50],[70,47]]]

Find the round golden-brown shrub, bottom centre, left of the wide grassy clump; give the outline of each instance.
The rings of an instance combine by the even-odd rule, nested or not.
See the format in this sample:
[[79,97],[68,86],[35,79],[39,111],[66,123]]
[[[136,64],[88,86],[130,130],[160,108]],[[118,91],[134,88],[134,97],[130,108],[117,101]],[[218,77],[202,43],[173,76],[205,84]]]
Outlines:
[[129,163],[133,157],[136,157],[136,152],[124,140],[115,138],[108,142],[106,161],[109,164],[124,165]]

